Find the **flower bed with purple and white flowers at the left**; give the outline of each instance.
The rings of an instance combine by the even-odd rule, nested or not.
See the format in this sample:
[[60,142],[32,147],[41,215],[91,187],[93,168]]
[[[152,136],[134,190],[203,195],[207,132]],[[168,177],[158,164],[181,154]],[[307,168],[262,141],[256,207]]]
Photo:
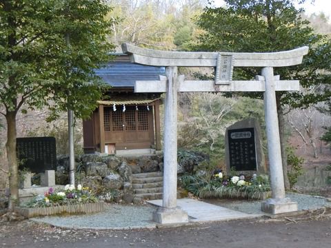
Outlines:
[[64,191],[58,192],[50,187],[43,196],[35,196],[15,210],[28,218],[65,213],[88,214],[103,211],[103,202],[99,202],[88,188],[66,185]]

